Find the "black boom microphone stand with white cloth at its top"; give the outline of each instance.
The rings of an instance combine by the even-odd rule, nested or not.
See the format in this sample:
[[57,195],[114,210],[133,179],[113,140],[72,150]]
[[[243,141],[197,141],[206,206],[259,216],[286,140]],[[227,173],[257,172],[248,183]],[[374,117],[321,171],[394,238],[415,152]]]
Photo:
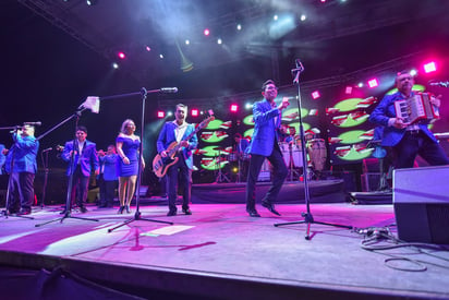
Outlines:
[[[64,215],[60,218],[56,218],[46,223],[41,223],[41,224],[36,224],[35,227],[40,227],[53,221],[60,221],[62,223],[65,218],[73,218],[73,219],[83,219],[83,220],[92,220],[92,221],[98,221],[98,219],[90,219],[90,218],[82,218],[82,217],[74,217],[71,215],[72,212],[72,189],[73,189],[73,173],[75,172],[76,166],[73,165],[74,160],[75,160],[75,149],[77,149],[77,140],[76,140],[76,128],[78,125],[78,120],[80,120],[80,116],[81,113],[85,110],[86,108],[83,108],[82,110],[76,111],[75,113],[73,113],[72,116],[70,116],[69,118],[66,118],[65,120],[63,120],[61,123],[57,124],[56,127],[51,128],[49,131],[47,131],[46,133],[41,134],[39,139],[44,137],[45,135],[47,135],[48,133],[50,133],[51,131],[53,131],[54,129],[61,127],[62,124],[64,124],[65,122],[70,121],[72,118],[75,118],[75,135],[73,139],[73,151],[72,154],[70,155],[70,161],[69,161],[69,166],[70,166],[70,176],[69,176],[69,185],[68,185],[68,192],[66,192],[66,197],[65,197],[65,209],[63,211]],[[44,203],[44,202],[43,202]]]

